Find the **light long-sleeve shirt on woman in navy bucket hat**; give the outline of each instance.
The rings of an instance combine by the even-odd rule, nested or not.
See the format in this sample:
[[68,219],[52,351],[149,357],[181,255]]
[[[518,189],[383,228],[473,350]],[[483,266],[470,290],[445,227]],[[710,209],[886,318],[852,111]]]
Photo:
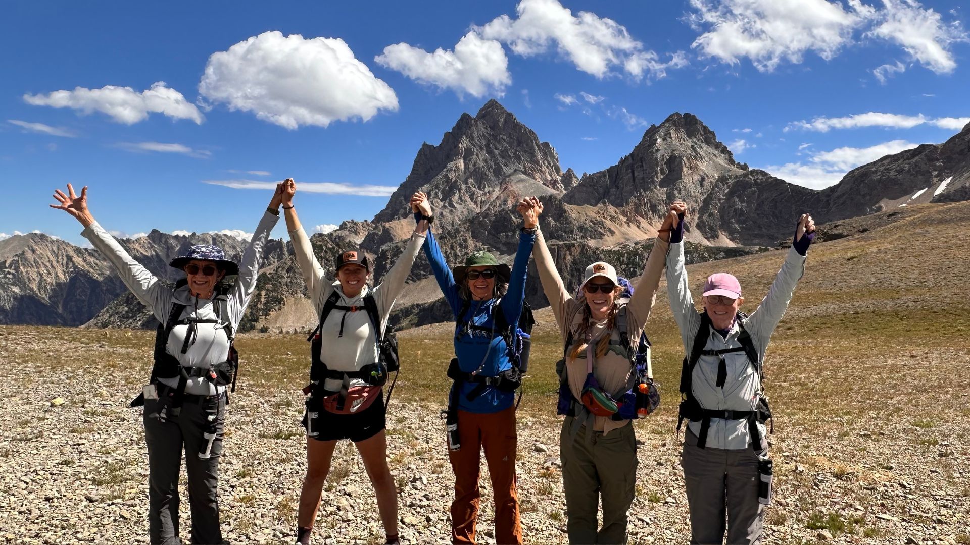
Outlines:
[[[168,322],[169,312],[172,305],[178,303],[185,305],[182,311],[182,318],[195,318],[199,320],[219,320],[216,324],[198,324],[195,340],[189,345],[188,350],[182,354],[181,347],[188,332],[187,325],[178,325],[169,335],[166,351],[178,359],[182,366],[193,368],[209,368],[213,364],[226,361],[229,354],[229,338],[224,329],[225,322],[223,316],[227,317],[233,332],[239,329],[242,314],[249,305],[249,300],[256,289],[256,277],[259,275],[259,267],[263,259],[263,249],[266,241],[270,237],[270,231],[276,224],[279,217],[267,211],[260,219],[256,231],[249,240],[249,245],[242,254],[242,262],[239,264],[240,273],[233,284],[232,290],[225,297],[226,310],[217,315],[212,307],[212,299],[196,299],[189,292],[188,286],[181,286],[177,290],[161,283],[157,276],[149,272],[140,263],[135,261],[124,248],[118,244],[117,240],[108,234],[97,222],[92,223],[81,232],[81,236],[91,241],[91,244],[101,252],[112,264],[114,270],[121,277],[121,281],[135,294],[144,305],[151,309],[155,319],[162,324]],[[178,377],[159,378],[163,384],[172,387],[178,386]],[[225,386],[218,389],[206,380],[205,377],[190,378],[185,385],[187,394],[197,396],[211,396],[216,392],[225,390]]]

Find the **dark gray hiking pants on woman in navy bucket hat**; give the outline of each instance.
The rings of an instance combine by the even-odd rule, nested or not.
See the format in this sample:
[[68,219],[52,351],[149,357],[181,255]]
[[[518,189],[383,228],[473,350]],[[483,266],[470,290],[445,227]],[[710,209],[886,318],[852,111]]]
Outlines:
[[[145,401],[145,440],[148,444],[148,537],[151,545],[180,545],[178,538],[178,473],[182,446],[188,473],[188,498],[192,514],[192,543],[222,543],[219,501],[216,497],[219,456],[226,415],[226,396],[186,400],[178,416],[166,422],[157,418],[158,401]],[[208,460],[199,458],[209,440],[207,416],[214,414],[215,439]]]

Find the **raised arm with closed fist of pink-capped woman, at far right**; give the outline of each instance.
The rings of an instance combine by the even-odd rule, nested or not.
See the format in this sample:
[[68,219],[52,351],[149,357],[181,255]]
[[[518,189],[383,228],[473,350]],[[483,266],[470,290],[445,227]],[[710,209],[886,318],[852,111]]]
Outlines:
[[751,313],[747,328],[755,339],[759,350],[767,347],[771,334],[781,321],[792,301],[794,288],[805,272],[805,259],[808,246],[815,239],[815,220],[809,214],[802,214],[795,227],[792,248],[785,257],[785,263],[771,283],[768,294],[761,300],[758,308]]

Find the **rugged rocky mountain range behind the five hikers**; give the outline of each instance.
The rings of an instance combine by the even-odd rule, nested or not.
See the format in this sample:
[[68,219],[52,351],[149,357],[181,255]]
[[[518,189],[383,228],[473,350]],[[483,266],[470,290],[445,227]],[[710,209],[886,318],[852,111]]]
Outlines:
[[[575,284],[589,263],[606,259],[619,272],[640,272],[645,251],[673,199],[688,203],[695,260],[733,257],[775,247],[791,237],[794,220],[811,211],[819,223],[903,205],[970,200],[970,125],[944,144],[923,144],[851,171],[821,191],[793,185],[734,160],[715,133],[690,113],[651,125],[619,163],[577,176],[565,172],[556,150],[495,100],[474,116],[464,113],[440,144],[423,144],[410,174],[372,221],[345,221],[311,241],[325,269],[339,251],[362,247],[374,258],[374,281],[400,255],[413,229],[407,207],[415,191],[429,194],[435,230],[449,263],[487,249],[511,260],[520,219],[514,204],[543,202],[542,231],[564,279]],[[304,218],[311,220],[311,218]],[[169,281],[168,267],[185,247],[212,243],[238,259],[245,240],[220,234],[168,235],[152,231],[120,240],[149,270]],[[243,331],[301,330],[316,316],[288,243],[272,241],[258,293]],[[546,305],[533,278],[529,298]],[[153,319],[95,250],[42,234],[0,240],[0,324],[148,327]],[[399,299],[392,325],[449,319],[423,255]]]

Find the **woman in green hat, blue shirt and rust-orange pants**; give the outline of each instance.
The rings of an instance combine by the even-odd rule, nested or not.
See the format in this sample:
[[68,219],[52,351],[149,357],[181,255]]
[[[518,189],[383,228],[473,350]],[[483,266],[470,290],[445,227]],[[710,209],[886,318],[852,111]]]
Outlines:
[[[431,215],[424,193],[415,193],[411,206],[418,219]],[[451,270],[431,230],[425,239],[425,255],[456,321],[457,358],[448,369],[455,382],[447,411],[448,456],[455,472],[452,543],[475,542],[483,448],[495,494],[495,540],[522,543],[515,488],[515,386],[521,383],[521,372],[513,366],[509,339],[522,314],[535,232],[535,223],[527,219],[511,270],[486,251],[472,253],[464,265]]]

